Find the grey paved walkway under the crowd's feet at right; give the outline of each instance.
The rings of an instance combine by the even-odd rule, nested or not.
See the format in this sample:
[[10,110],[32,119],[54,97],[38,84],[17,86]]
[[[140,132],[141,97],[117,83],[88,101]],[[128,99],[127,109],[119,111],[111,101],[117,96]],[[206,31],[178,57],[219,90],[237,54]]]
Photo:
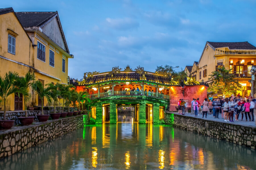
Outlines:
[[[171,113],[178,114],[178,112],[171,112]],[[238,121],[235,120],[235,117],[233,118],[234,122],[224,122],[224,119],[221,118],[221,114],[219,114],[220,119],[213,118],[213,114],[208,114],[207,118],[205,118],[205,116],[204,116],[204,118],[202,118],[203,114],[201,113],[201,111],[199,112],[199,114],[197,115],[197,117],[195,117],[195,115],[191,114],[191,113],[186,113],[184,116],[190,116],[190,117],[195,117],[195,118],[198,118],[198,119],[205,119],[205,120],[213,120],[213,121],[216,121],[216,122],[223,122],[223,123],[228,123],[228,124],[237,124],[237,125],[243,125],[243,126],[256,127],[255,122],[249,121],[248,116],[247,116],[247,122],[245,121],[245,115],[243,115],[243,120],[241,120],[241,118],[242,118],[241,114],[239,114]]]

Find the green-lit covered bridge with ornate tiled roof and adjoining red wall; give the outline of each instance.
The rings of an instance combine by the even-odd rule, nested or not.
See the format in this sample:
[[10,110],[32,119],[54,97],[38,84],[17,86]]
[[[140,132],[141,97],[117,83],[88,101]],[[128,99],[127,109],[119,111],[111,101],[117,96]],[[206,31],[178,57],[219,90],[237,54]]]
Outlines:
[[[116,123],[127,119],[139,123],[159,123],[164,118],[164,111],[169,110],[170,94],[174,91],[175,94],[181,94],[181,98],[200,92],[206,96],[206,91],[202,90],[184,94],[180,89],[188,88],[178,85],[170,74],[144,71],[140,66],[135,70],[127,65],[123,71],[119,67],[113,67],[112,71],[104,73],[84,73],[82,80],[71,78],[70,83],[76,86],[78,92],[88,92],[91,116],[96,123]],[[185,84],[191,85],[191,88],[195,85],[198,89],[204,86],[199,85],[199,82],[191,82],[190,79]],[[173,86],[178,87],[178,90],[174,90]],[[178,101],[172,102],[177,106]]]

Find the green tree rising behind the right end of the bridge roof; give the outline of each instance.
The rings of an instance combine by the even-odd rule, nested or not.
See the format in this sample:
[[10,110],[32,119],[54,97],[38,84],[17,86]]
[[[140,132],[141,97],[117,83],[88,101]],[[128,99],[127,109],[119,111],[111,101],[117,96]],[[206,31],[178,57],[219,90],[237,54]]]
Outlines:
[[181,71],[174,71],[174,67],[170,65],[165,65],[165,66],[156,66],[156,72],[162,72],[162,73],[167,73],[172,75],[172,79],[179,84],[183,84],[184,80],[187,81],[187,73],[182,70]]

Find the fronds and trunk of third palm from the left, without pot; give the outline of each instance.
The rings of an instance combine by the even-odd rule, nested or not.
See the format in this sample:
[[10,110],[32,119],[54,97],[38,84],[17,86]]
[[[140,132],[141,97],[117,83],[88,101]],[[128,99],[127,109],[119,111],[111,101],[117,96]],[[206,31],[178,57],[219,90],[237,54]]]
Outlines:
[[[44,99],[44,97],[46,97],[48,102],[51,102],[51,96],[49,94],[51,88],[49,86],[47,88],[44,88],[43,84],[39,80],[37,80],[32,84],[32,89],[36,91],[36,94],[38,94],[41,99]],[[44,103],[42,103],[41,114],[44,115]]]

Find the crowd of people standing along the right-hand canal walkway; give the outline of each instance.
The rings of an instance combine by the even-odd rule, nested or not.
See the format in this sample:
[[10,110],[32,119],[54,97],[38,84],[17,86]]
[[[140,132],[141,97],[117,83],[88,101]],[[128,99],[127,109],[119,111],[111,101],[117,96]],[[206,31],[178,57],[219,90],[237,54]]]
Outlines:
[[[199,98],[191,101],[191,114],[196,117],[199,111],[202,113],[202,118],[207,118],[208,114],[213,114],[213,118],[224,119],[224,122],[234,122],[238,120],[254,121],[254,109],[256,99],[245,96],[244,98],[238,95],[231,95],[229,98],[213,98],[211,95],[208,99],[204,99],[203,103],[199,102]],[[178,113],[185,114],[186,102],[180,99],[178,102]],[[219,117],[221,115],[221,117]],[[239,119],[241,115],[241,119]]]

